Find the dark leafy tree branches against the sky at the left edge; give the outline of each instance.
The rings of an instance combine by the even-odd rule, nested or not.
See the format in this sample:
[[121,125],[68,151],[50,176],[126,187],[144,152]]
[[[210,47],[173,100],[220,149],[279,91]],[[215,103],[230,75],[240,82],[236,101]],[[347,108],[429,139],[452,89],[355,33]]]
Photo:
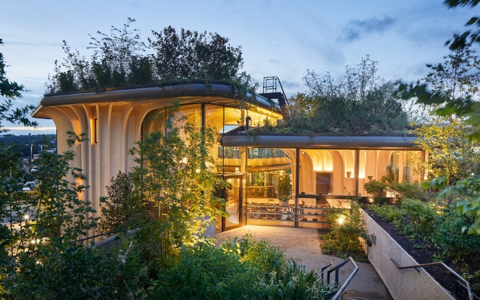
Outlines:
[[[3,45],[3,40],[0,38],[0,45]],[[5,61],[3,60],[3,54],[0,52],[0,97],[5,97],[2,103],[0,103],[0,133],[6,132],[3,129],[1,121],[9,121],[12,123],[23,124],[25,126],[36,126],[36,122],[32,122],[28,119],[27,114],[30,110],[34,109],[33,105],[26,105],[23,108],[14,108],[13,99],[21,98],[21,92],[23,91],[23,85],[16,82],[10,82],[6,77]]]

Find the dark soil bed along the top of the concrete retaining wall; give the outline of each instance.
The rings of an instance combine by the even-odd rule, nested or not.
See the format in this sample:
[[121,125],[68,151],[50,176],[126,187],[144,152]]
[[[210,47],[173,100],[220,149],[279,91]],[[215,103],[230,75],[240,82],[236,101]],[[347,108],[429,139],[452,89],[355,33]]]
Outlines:
[[[435,249],[431,245],[423,242],[420,239],[412,240],[409,236],[405,236],[403,234],[399,234],[396,228],[392,223],[384,220],[383,218],[376,216],[369,212],[368,208],[366,208],[366,212],[368,215],[375,221],[377,224],[382,227],[390,236],[405,250],[409,255],[414,258],[418,264],[427,264],[430,262],[434,262],[435,258],[438,257],[438,249]],[[468,260],[468,258],[467,258]],[[464,268],[465,262],[455,262],[451,258],[444,257],[442,261],[453,268],[457,273],[462,275],[462,268]],[[476,263],[468,262],[468,266],[470,270],[480,270],[480,263],[477,261]],[[425,270],[438,282],[440,283],[446,290],[449,290],[453,293],[455,288],[455,280],[453,276],[449,274],[443,267],[441,266],[428,266]],[[464,290],[463,288],[460,288]],[[474,290],[475,294],[479,295],[479,290]],[[462,297],[466,297],[462,295]],[[459,298],[462,299],[462,298]]]

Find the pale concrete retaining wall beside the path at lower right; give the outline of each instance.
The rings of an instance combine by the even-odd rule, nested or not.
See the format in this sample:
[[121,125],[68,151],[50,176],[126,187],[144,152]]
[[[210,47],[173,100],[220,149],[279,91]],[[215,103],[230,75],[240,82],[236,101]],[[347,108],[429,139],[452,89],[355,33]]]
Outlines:
[[412,299],[455,299],[423,268],[399,270],[390,260],[393,258],[399,266],[418,264],[403,248],[393,240],[368,214],[364,213],[364,222],[368,236],[375,236],[372,246],[366,247],[368,260],[379,273],[395,300]]

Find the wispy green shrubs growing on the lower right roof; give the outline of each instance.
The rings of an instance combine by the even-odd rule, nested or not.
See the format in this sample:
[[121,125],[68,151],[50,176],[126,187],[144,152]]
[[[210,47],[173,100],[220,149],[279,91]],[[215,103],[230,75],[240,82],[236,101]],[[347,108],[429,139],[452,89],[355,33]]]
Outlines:
[[329,73],[307,71],[309,92],[290,99],[288,120],[277,126],[292,132],[405,134],[407,116],[392,97],[394,84],[377,77],[377,62],[367,55],[336,82]]

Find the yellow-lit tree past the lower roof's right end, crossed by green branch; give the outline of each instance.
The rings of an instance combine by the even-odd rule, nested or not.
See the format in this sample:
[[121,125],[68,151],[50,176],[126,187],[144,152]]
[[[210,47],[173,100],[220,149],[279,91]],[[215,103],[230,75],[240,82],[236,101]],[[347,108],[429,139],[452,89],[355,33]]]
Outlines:
[[[480,61],[472,55],[470,45],[455,49],[444,57],[445,61],[438,64],[427,64],[430,72],[425,82],[438,91],[443,97],[464,99],[478,92],[480,77],[475,70]],[[446,184],[478,173],[479,158],[475,151],[476,145],[468,142],[468,126],[464,119],[454,115],[439,116],[435,111],[442,109],[441,105],[431,105],[422,108],[429,112],[427,120],[417,120],[414,127],[419,137],[416,145],[429,155],[427,162],[418,160],[429,179],[446,177]]]

